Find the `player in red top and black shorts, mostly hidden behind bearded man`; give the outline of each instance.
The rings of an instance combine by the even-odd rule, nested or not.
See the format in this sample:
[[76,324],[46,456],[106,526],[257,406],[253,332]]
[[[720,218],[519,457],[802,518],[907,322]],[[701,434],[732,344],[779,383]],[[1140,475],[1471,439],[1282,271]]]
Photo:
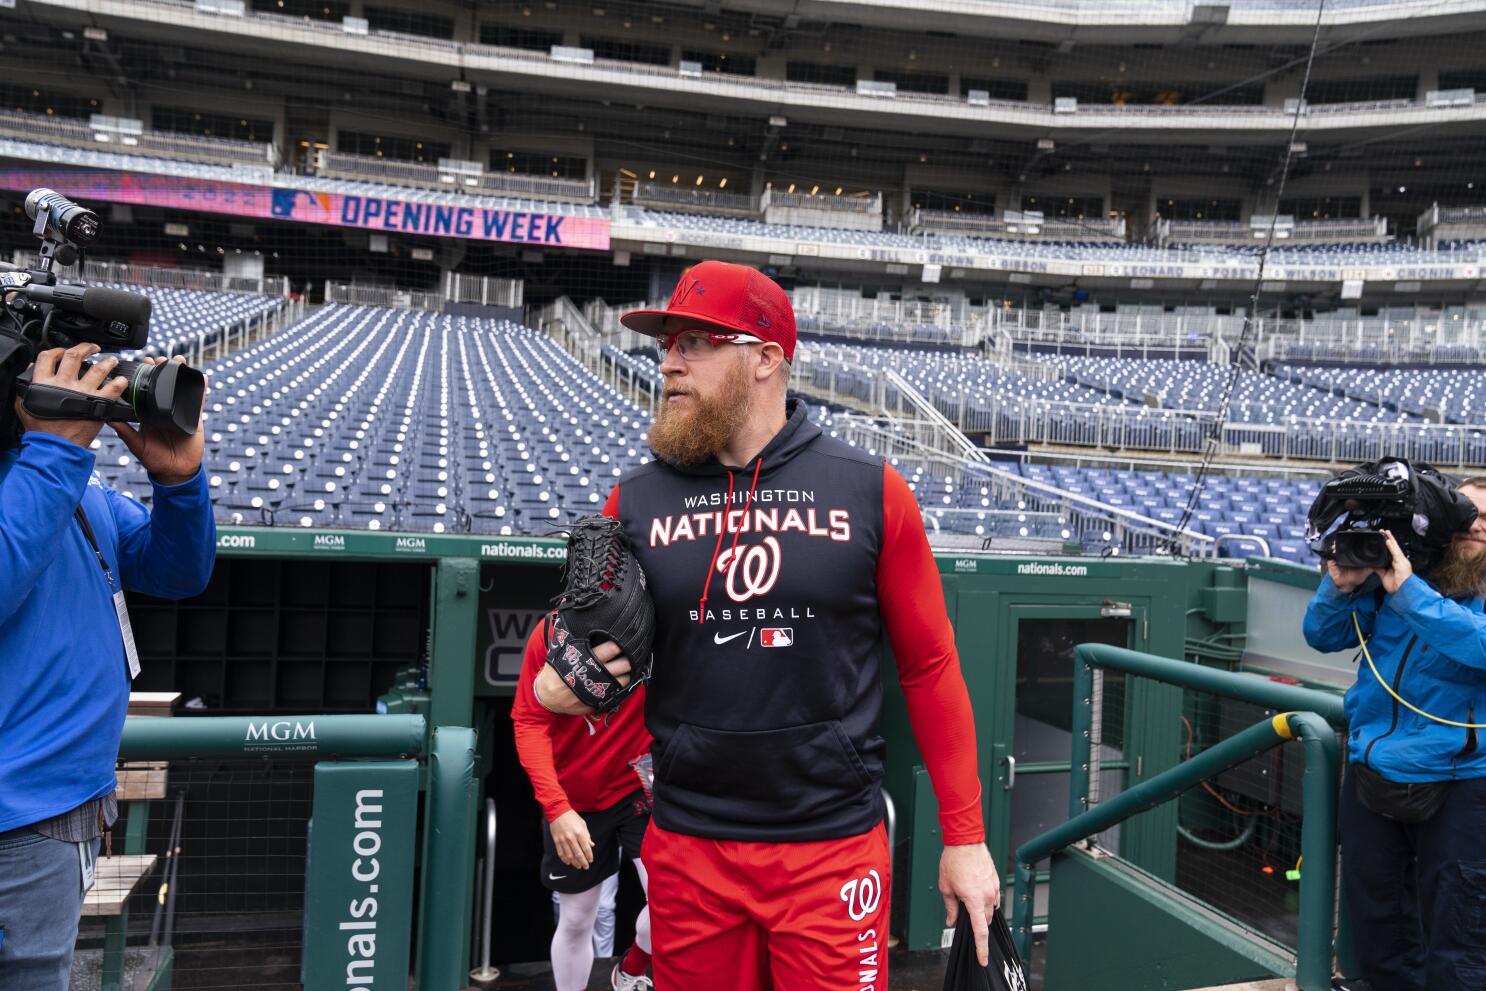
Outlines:
[[[532,694],[547,666],[547,620],[526,640],[522,676],[511,704],[516,753],[532,779],[545,825],[542,884],[557,891],[557,932],[553,935],[553,979],[557,991],[581,991],[593,970],[593,923],[603,881],[629,857],[649,887],[640,842],[649,825],[649,799],[633,762],[649,753],[645,730],[645,686],[608,718],[566,716],[544,709]],[[648,891],[646,891],[648,896]],[[614,966],[615,991],[645,991],[651,979],[649,906],[635,921],[635,945]]]

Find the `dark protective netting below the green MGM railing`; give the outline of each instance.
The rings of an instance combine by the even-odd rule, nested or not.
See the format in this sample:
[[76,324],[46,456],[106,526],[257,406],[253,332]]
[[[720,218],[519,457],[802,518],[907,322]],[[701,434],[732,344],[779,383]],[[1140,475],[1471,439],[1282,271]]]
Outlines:
[[314,767],[131,762],[73,988],[300,988]]

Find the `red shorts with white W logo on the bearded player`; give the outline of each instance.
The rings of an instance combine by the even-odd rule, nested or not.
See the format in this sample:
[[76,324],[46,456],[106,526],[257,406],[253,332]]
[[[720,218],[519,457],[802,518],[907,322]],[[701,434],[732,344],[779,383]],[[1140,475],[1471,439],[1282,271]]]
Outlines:
[[737,842],[651,820],[657,991],[887,991],[887,831]]

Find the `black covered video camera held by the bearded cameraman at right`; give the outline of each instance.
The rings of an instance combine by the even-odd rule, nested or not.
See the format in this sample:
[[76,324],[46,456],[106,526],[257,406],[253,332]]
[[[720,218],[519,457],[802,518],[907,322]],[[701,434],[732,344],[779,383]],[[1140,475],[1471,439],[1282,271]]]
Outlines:
[[1321,486],[1306,519],[1306,541],[1340,568],[1389,568],[1382,530],[1409,563],[1428,572],[1450,539],[1476,522],[1476,504],[1425,464],[1383,458],[1349,468]]

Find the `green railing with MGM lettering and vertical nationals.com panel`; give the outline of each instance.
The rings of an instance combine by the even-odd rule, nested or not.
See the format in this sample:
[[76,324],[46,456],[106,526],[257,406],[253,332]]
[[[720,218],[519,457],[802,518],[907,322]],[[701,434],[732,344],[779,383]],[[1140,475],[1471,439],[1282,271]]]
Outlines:
[[[352,973],[386,975],[385,981],[401,987],[412,949],[424,991],[465,987],[467,920],[474,897],[474,730],[438,727],[429,734],[419,715],[131,716],[119,747],[120,761],[314,762],[315,828],[305,878],[306,987],[340,987]],[[421,779],[426,782],[424,871],[415,906]],[[143,844],[143,834],[131,814],[129,844]],[[367,912],[369,896],[377,903],[374,915]],[[418,943],[410,946],[415,908]],[[110,920],[106,985],[119,987],[126,932],[126,914]],[[348,938],[370,933],[374,942],[367,938],[360,946],[374,948],[374,958],[357,958],[355,952],[348,958]]]

